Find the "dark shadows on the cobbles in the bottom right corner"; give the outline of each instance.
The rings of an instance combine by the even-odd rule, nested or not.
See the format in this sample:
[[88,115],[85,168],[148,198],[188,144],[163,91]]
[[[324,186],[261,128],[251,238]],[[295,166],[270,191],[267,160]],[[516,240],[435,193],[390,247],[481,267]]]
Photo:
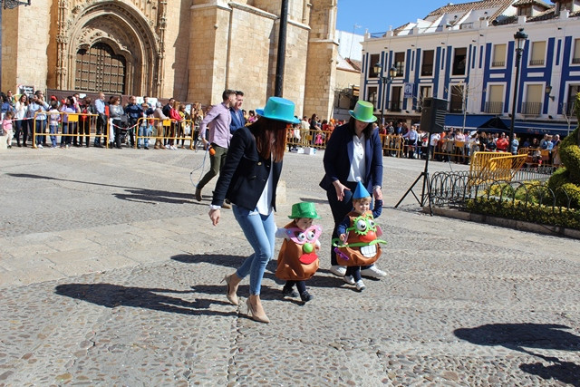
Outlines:
[[570,327],[559,324],[486,324],[476,328],[456,329],[453,334],[469,343],[501,345],[520,353],[536,356],[552,364],[520,364],[519,369],[542,379],[554,379],[580,387],[578,364],[562,362],[556,357],[545,356],[526,349],[580,351],[580,337],[565,332],[565,329],[570,329]]

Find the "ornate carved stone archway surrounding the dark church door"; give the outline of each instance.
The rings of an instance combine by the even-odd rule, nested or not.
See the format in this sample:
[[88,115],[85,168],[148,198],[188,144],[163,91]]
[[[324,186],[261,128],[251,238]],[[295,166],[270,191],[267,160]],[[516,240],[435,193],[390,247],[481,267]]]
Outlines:
[[[73,3],[73,4],[71,4]],[[155,95],[162,86],[160,67],[163,54],[160,38],[153,30],[154,15],[143,15],[131,1],[61,0],[57,35],[56,86],[63,90],[81,90],[77,85],[77,53],[95,44],[107,44],[113,54],[124,59],[125,92]],[[95,68],[95,71],[100,71]]]

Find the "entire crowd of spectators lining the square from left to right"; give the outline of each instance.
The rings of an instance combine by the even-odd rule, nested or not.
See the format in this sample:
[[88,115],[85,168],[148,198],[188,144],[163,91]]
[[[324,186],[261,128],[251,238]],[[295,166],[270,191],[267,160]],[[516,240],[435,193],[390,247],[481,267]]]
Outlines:
[[[107,145],[104,141],[108,136],[109,148],[121,149],[126,145],[149,150],[150,139],[154,138],[154,149],[196,149],[201,144],[199,123],[211,108],[202,109],[201,104],[195,102],[187,109],[185,103],[173,98],[165,105],[150,103],[148,97],[137,103],[135,96],[131,96],[123,106],[120,96],[105,100],[102,92],[94,101],[90,97],[80,98],[78,93],[61,101],[55,96],[45,99],[41,91],[15,96],[8,91],[0,93],[0,97],[2,120],[5,112],[11,111],[14,123],[14,140],[9,145],[15,141],[17,147],[32,145],[36,148],[81,147],[83,144],[89,147],[91,138],[94,147],[102,148]],[[243,113],[247,125],[257,120],[255,111],[244,110]],[[78,114],[78,120],[69,121],[70,114]],[[315,113],[304,116],[288,131],[288,150],[324,149],[334,128],[344,122],[333,118],[321,120]],[[381,135],[385,156],[420,159],[426,158],[430,150],[431,160],[467,164],[475,151],[527,152],[530,163],[560,163],[557,153],[560,138],[557,134],[545,134],[541,139],[516,137],[510,141],[504,131],[463,131],[460,128],[446,128],[429,136],[428,132],[421,130],[420,124],[410,126],[404,121],[386,121],[382,125],[375,122],[374,128]]]

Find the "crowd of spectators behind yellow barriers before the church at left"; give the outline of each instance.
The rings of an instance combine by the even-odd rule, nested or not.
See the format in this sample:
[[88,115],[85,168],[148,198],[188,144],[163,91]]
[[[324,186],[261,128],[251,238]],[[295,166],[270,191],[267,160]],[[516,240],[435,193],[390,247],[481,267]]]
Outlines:
[[[112,95],[105,100],[100,92],[94,101],[79,93],[59,100],[44,93],[13,96],[12,91],[0,93],[2,116],[5,121],[9,112],[13,123],[13,138],[17,147],[33,146],[37,149],[70,148],[92,144],[96,148],[117,148],[123,145],[150,149],[150,138],[155,138],[153,148],[177,150],[196,147],[197,128],[204,111],[196,102],[189,105],[169,99],[166,105],[149,102],[143,97],[137,102],[135,96],[121,104],[121,96]],[[109,142],[107,143],[107,139]]]

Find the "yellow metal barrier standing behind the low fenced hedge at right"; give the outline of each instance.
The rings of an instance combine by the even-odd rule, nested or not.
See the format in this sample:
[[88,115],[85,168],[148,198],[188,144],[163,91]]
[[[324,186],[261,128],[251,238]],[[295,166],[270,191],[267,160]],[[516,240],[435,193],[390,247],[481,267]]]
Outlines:
[[475,152],[469,166],[469,186],[496,180],[511,181],[526,162],[527,155],[504,152]]

